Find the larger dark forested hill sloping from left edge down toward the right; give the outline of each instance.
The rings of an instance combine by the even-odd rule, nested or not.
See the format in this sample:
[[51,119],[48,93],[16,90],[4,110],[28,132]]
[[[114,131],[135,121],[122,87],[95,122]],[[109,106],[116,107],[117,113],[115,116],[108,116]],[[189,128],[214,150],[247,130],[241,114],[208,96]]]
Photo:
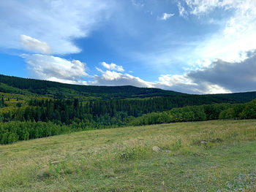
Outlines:
[[[71,85],[61,82],[51,82],[47,80],[34,80],[21,77],[11,77],[0,74],[0,83],[4,83],[12,88],[18,88],[22,93],[24,90],[39,95],[54,93],[64,94],[67,98],[70,93],[77,96],[96,96],[102,99],[110,98],[145,98],[151,96],[177,96],[184,95],[175,91],[165,91],[159,88],[137,88],[134,86],[95,86],[95,85]],[[3,86],[3,85],[2,85]],[[4,92],[4,88],[0,86],[0,91]],[[8,89],[8,88],[7,88]],[[9,88],[10,89],[10,88]],[[70,98],[69,98],[70,99]]]

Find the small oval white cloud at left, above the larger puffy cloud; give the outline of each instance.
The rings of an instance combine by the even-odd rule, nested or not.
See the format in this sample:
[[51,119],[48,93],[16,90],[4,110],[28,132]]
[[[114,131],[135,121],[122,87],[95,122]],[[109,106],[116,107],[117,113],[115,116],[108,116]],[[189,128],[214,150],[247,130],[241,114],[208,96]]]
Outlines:
[[46,42],[40,42],[38,39],[34,39],[32,37],[26,35],[20,35],[21,44],[27,49],[31,50],[32,52],[39,52],[39,53],[50,53],[50,47],[47,45]]

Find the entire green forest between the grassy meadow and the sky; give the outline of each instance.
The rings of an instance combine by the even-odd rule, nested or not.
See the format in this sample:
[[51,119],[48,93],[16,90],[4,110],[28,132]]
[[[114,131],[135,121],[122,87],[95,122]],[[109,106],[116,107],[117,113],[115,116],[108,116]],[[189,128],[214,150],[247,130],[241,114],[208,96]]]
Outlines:
[[256,118],[256,92],[190,95],[0,75],[0,144],[71,131]]

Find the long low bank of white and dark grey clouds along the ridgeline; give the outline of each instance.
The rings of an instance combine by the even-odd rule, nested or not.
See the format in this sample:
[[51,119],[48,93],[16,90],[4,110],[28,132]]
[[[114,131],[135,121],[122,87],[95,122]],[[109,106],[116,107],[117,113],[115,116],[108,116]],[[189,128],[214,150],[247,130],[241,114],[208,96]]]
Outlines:
[[[82,85],[133,85],[183,93],[255,91],[256,51],[247,53],[247,57],[244,61],[233,63],[217,60],[185,74],[165,74],[161,75],[156,82],[148,82],[131,74],[113,70],[103,71],[98,68],[100,75],[89,75],[86,73],[86,64],[78,60],[68,61],[64,58],[41,54],[23,55],[33,77],[43,80]],[[92,80],[85,81],[84,77]]]

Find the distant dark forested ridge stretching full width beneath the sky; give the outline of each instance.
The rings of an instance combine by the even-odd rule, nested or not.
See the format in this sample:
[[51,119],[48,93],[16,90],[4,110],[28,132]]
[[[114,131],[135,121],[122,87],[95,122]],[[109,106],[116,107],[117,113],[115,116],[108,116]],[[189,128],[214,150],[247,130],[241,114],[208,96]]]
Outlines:
[[[185,105],[210,103],[243,103],[256,98],[256,91],[246,93],[190,95],[159,88],[137,88],[134,86],[94,86],[70,85],[47,80],[34,80],[0,74],[0,92],[15,93],[23,96],[43,96],[52,99],[80,99],[81,101],[97,99],[143,99],[170,97],[189,100]],[[193,100],[190,102],[190,100]],[[196,101],[197,100],[197,101]],[[200,100],[200,101],[199,101]],[[178,106],[183,106],[178,104]]]

